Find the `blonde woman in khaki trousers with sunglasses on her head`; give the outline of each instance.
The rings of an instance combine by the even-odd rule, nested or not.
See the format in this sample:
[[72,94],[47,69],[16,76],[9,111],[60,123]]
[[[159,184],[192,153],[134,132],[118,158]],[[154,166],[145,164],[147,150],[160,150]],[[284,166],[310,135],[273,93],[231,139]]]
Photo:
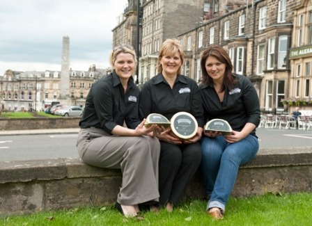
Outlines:
[[[159,201],[160,145],[139,120],[139,88],[133,74],[136,54],[131,45],[111,51],[114,71],[93,83],[79,126],[77,149],[84,163],[120,169],[123,174],[116,207],[126,217],[138,216],[139,204]],[[124,122],[127,127],[124,127]]]

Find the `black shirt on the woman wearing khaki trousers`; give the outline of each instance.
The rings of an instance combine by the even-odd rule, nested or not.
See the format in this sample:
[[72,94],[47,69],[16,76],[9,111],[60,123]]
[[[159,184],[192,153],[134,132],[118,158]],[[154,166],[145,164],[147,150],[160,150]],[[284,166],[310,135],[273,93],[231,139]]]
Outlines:
[[116,125],[123,126],[124,122],[132,129],[140,123],[139,88],[135,86],[131,77],[125,94],[114,71],[91,86],[79,126],[83,129],[102,128],[111,134]]

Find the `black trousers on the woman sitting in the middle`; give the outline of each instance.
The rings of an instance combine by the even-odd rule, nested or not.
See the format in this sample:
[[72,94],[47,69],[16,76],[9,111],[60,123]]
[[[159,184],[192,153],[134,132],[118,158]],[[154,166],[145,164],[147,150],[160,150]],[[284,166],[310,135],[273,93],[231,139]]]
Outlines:
[[159,204],[178,204],[201,163],[201,144],[173,145],[160,141]]

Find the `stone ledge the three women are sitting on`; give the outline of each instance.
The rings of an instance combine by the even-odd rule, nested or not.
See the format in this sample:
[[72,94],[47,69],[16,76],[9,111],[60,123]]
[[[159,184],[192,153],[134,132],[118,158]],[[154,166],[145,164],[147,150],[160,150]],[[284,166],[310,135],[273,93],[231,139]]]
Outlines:
[[[120,183],[120,170],[77,158],[0,162],[0,215],[112,204]],[[232,195],[300,191],[312,191],[312,147],[260,150],[240,168]],[[203,198],[200,170],[185,198]]]

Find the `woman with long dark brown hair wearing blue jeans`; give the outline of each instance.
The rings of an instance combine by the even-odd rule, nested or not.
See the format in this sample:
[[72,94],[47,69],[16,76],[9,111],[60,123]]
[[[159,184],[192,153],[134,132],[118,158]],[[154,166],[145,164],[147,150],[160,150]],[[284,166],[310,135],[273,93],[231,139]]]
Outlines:
[[201,138],[203,179],[208,197],[207,212],[222,219],[240,165],[256,156],[259,148],[256,127],[260,106],[256,89],[246,76],[233,74],[231,58],[219,45],[201,56],[203,83],[200,85],[206,122],[226,120],[233,132],[209,131]]

